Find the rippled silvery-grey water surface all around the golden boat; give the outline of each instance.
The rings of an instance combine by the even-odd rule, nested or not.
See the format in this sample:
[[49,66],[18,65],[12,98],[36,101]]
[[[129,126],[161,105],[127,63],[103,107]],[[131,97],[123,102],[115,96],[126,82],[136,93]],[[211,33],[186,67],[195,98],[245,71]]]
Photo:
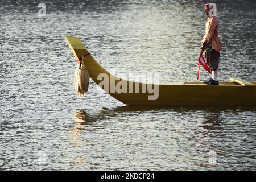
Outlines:
[[[195,81],[203,1],[44,1],[41,18],[40,2],[0,2],[0,169],[256,169],[255,107],[123,106],[93,82],[74,92],[65,35],[117,76]],[[229,2],[216,1],[219,80],[253,81],[256,3]]]

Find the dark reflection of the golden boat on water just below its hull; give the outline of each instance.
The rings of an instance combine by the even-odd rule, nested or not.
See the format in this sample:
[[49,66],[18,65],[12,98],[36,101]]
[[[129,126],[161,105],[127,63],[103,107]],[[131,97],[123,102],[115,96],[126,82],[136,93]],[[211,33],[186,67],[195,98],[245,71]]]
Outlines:
[[201,127],[207,130],[221,129],[221,122],[224,120],[222,113],[241,112],[241,111],[255,111],[254,106],[218,106],[218,107],[205,107],[205,106],[118,106],[114,108],[103,107],[96,114],[91,114],[86,110],[75,110],[73,113],[74,122],[76,125],[72,131],[84,130],[86,125],[90,125],[96,121],[104,119],[113,119],[120,117],[127,113],[130,116],[149,113],[203,113],[204,119],[201,122]]

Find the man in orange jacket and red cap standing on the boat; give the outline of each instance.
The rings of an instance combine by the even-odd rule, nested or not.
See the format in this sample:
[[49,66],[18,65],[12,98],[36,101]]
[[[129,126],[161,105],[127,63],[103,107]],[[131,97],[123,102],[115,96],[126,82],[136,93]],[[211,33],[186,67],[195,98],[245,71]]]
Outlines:
[[205,81],[207,85],[218,85],[218,63],[220,61],[221,42],[218,39],[217,7],[215,3],[204,5],[204,13],[207,15],[205,34],[201,42],[201,49],[205,51],[207,65],[212,71],[212,78]]

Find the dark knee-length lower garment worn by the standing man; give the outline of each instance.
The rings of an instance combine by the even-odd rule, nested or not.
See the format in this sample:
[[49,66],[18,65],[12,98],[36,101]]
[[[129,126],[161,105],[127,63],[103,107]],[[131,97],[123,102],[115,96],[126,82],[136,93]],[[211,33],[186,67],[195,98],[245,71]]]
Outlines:
[[205,58],[210,70],[216,71],[216,69],[218,69],[218,63],[220,62],[220,52],[212,49],[212,51],[205,52]]

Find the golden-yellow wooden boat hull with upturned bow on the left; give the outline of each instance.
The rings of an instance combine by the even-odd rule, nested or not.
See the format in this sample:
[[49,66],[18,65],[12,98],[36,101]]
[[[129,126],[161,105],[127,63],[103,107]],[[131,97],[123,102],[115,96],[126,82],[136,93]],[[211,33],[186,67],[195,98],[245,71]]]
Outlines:
[[[89,71],[89,76],[96,84],[100,73],[105,73],[109,77],[114,77],[93,59],[92,55],[82,44],[81,39],[66,36],[69,47],[76,59],[84,57],[84,63]],[[89,54],[89,55],[88,55]],[[121,79],[122,80],[122,79]],[[234,80],[234,79],[233,79]],[[108,87],[118,84],[120,79],[115,79],[113,83],[109,82]],[[144,83],[122,80],[129,84],[137,84],[142,89]],[[153,84],[154,85],[154,84]],[[164,83],[158,86],[159,94],[155,100],[149,100],[149,93],[109,93],[118,101],[126,105],[137,106],[255,106],[256,105],[256,82],[246,82],[245,86],[239,82],[220,82],[220,85],[205,85],[203,82],[177,82]],[[105,88],[104,88],[105,89]],[[128,88],[127,88],[128,89]],[[134,91],[134,90],[133,90]]]

